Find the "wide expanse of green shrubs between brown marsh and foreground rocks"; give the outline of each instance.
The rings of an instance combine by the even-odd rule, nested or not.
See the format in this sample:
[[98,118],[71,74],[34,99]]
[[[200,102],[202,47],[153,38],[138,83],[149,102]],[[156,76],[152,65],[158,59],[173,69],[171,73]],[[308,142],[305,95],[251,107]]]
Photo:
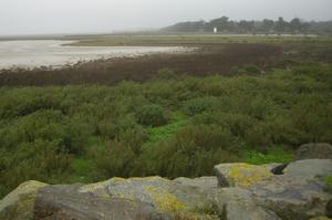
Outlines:
[[288,161],[332,143],[332,64],[252,75],[0,88],[0,195],[28,179],[211,175],[219,163]]

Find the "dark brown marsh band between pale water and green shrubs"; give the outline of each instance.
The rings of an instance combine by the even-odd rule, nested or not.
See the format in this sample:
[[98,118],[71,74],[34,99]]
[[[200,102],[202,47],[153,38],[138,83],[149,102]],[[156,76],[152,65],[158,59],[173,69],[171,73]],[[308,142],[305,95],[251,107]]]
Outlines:
[[0,74],[0,85],[114,84],[123,80],[146,81],[162,69],[188,75],[231,75],[232,66],[256,64],[269,69],[283,51],[269,44],[201,45],[184,54],[157,54],[110,59],[68,66],[61,70],[10,70]]

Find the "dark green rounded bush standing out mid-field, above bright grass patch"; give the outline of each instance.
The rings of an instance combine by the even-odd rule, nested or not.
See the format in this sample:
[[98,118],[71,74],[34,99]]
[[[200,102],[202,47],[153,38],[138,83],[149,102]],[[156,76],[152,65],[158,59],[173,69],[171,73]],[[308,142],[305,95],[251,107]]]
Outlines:
[[165,109],[156,104],[145,105],[137,113],[137,122],[145,126],[160,126],[167,123]]

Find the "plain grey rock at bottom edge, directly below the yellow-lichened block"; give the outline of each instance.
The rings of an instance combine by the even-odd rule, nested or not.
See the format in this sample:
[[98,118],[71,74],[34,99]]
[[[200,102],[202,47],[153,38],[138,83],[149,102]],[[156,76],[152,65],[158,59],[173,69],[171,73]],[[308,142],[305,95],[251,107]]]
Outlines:
[[214,195],[220,219],[277,220],[274,212],[259,206],[251,192],[242,188],[222,188]]

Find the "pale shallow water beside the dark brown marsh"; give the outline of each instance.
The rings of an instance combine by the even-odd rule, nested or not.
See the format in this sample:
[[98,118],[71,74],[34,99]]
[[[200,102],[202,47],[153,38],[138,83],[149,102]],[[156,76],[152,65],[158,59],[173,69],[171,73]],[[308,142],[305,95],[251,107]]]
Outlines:
[[178,53],[180,46],[64,46],[73,41],[0,41],[0,69],[61,67],[80,61]]

